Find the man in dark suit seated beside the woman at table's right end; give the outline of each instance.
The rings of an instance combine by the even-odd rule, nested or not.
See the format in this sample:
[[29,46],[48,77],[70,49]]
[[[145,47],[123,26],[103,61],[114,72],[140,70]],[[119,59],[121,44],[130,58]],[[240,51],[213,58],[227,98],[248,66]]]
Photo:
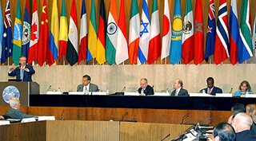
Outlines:
[[222,93],[222,89],[214,86],[214,78],[208,77],[207,80],[207,88],[203,88],[200,92],[206,92],[209,95],[215,96],[216,93]]

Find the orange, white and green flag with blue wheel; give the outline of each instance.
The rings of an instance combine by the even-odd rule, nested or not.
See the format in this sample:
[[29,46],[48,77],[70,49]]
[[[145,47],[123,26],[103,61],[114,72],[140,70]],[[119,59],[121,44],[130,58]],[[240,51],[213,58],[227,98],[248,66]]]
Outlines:
[[110,2],[109,18],[106,26],[106,61],[113,65],[118,39],[118,12],[115,0]]

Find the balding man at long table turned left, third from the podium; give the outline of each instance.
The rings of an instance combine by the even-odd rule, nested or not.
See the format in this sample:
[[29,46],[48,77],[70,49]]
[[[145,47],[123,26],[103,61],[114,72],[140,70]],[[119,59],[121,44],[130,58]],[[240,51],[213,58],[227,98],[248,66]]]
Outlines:
[[188,96],[188,92],[183,88],[182,80],[174,80],[174,91],[171,92],[170,96]]

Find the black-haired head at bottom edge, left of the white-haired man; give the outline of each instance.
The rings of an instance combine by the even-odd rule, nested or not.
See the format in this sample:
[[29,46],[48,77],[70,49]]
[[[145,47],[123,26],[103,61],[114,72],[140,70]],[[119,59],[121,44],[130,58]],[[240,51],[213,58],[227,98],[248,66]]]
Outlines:
[[229,123],[218,123],[218,125],[214,128],[214,140],[234,141],[234,128]]

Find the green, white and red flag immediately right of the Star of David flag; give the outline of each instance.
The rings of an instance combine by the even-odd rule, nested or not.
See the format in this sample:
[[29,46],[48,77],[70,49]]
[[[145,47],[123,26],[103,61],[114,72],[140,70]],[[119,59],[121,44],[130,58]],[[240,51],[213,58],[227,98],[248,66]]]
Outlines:
[[158,0],[153,1],[150,28],[150,44],[147,61],[152,64],[161,57],[161,37],[158,14]]

